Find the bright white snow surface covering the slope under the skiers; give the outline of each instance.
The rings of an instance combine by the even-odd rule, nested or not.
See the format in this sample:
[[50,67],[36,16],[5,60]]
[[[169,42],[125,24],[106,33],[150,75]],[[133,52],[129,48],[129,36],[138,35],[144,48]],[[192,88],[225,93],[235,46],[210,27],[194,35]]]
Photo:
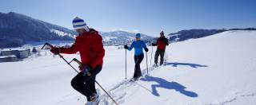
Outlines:
[[[150,67],[149,75],[137,82],[125,80],[125,50],[106,47],[97,80],[122,105],[254,105],[255,40],[256,31],[227,31],[171,44],[166,49],[166,66]],[[127,52],[128,79],[134,72],[133,55],[133,51]],[[149,66],[150,55],[148,52]],[[64,57],[72,60],[79,55]],[[146,55],[141,68],[146,75]],[[85,97],[70,86],[76,72],[50,52],[23,61],[0,63],[0,72],[1,105],[86,103]],[[114,104],[100,88],[98,91],[101,105]]]

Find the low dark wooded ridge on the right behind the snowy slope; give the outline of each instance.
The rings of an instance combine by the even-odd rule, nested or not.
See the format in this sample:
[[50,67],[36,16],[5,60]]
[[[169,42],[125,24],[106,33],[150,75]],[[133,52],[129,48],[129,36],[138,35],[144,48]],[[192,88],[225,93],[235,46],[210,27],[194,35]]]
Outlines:
[[222,33],[229,30],[256,30],[256,28],[246,28],[246,29],[189,29],[182,30],[178,33],[170,33],[167,37],[170,41],[186,41],[188,39],[196,39],[201,37],[207,37],[214,35],[216,33]]

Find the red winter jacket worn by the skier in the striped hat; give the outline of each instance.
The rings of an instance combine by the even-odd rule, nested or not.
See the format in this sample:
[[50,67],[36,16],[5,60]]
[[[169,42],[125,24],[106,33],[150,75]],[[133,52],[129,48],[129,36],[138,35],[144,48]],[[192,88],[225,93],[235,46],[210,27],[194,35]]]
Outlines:
[[102,36],[94,30],[76,37],[74,44],[69,48],[62,48],[62,53],[73,54],[80,52],[82,64],[88,64],[92,68],[102,66],[105,49],[102,44]]

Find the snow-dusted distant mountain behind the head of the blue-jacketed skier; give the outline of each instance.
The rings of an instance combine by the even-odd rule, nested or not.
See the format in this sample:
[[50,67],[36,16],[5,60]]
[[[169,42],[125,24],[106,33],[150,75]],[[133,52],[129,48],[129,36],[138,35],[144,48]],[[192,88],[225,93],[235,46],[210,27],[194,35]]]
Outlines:
[[[104,45],[126,45],[134,41],[136,33],[126,31],[101,32]],[[142,41],[150,42],[153,37],[142,34]]]

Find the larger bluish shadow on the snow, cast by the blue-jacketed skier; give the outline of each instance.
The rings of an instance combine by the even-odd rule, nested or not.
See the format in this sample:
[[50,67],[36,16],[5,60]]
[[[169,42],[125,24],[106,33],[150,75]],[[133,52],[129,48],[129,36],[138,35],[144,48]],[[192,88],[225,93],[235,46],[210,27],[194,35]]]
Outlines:
[[198,94],[194,91],[186,91],[186,87],[184,87],[182,84],[178,84],[177,82],[169,82],[166,80],[163,80],[162,78],[154,77],[154,76],[145,76],[145,78],[141,78],[142,81],[149,81],[149,82],[157,82],[158,84],[152,84],[152,94],[156,96],[160,96],[157,88],[166,88],[166,89],[174,89],[175,91],[178,91],[182,93],[183,95],[190,96],[190,97],[198,97]]

